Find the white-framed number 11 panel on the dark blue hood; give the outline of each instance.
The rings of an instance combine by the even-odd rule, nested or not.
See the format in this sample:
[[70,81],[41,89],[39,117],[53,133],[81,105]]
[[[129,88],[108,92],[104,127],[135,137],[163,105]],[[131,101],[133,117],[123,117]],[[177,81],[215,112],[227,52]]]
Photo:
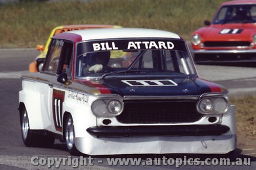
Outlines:
[[129,86],[178,86],[172,80],[121,80]]

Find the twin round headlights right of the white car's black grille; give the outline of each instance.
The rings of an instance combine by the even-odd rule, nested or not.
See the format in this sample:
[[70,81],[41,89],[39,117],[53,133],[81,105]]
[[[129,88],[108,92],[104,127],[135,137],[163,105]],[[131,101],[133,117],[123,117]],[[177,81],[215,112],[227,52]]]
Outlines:
[[223,114],[228,110],[226,96],[209,96],[198,101],[197,110],[201,114]]

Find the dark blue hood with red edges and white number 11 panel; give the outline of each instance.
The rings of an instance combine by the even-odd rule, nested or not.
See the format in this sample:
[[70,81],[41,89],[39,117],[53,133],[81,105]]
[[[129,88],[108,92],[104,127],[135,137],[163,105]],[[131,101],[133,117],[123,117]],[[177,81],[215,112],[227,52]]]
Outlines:
[[79,82],[96,88],[99,94],[121,96],[183,96],[227,91],[218,84],[200,78],[105,78],[100,81]]

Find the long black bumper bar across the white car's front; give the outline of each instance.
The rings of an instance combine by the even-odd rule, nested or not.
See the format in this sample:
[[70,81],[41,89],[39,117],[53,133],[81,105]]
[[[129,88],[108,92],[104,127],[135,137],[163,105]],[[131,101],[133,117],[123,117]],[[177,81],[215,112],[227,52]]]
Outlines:
[[178,125],[178,126],[99,126],[87,132],[100,137],[134,136],[214,136],[229,131],[225,125]]

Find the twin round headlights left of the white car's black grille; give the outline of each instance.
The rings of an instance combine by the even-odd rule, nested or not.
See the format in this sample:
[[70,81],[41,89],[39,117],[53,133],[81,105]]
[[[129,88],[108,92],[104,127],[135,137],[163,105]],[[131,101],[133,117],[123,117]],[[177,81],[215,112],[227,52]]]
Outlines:
[[117,99],[97,99],[91,105],[96,116],[117,116],[123,111],[123,102]]

